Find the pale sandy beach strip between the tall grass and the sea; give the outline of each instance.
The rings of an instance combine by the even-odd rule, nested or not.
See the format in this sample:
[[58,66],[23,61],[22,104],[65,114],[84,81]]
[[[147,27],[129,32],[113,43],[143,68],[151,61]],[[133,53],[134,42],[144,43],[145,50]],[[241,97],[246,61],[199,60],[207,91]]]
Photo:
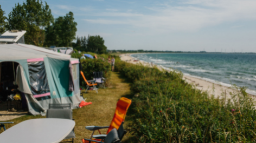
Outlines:
[[[125,62],[132,63],[132,64],[142,64],[144,66],[149,66],[149,67],[157,66],[159,70],[164,70],[163,67],[160,65],[151,65],[150,63],[143,62],[134,57],[131,57],[130,55],[131,54],[120,55],[120,59]],[[194,85],[195,88],[202,90],[202,91],[206,91],[210,95],[214,95],[215,98],[221,97],[221,95],[226,94],[226,98],[228,99],[228,98],[231,98],[231,94],[230,94],[231,92],[232,93],[237,92],[234,88],[222,86],[220,84],[211,83],[209,81],[206,81],[206,80],[203,80],[200,78],[183,75],[183,79],[185,81],[187,81],[187,83]],[[256,99],[256,96],[253,96],[251,94],[249,94],[249,96]]]

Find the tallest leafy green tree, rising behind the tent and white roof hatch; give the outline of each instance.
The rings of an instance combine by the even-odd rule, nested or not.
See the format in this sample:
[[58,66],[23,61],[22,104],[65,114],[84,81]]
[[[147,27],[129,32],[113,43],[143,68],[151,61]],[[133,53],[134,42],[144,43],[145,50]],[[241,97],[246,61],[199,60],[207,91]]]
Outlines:
[[42,46],[44,28],[53,23],[53,15],[49,5],[39,0],[27,0],[23,4],[15,4],[8,17],[9,30],[26,30],[25,43]]

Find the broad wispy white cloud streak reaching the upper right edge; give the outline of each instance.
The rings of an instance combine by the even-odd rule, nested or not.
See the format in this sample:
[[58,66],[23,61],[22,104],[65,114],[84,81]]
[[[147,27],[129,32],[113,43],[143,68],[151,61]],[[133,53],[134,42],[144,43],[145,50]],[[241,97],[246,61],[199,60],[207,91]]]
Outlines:
[[[195,31],[225,22],[256,19],[255,0],[183,0],[177,4],[159,4],[145,7],[152,11],[143,13],[103,12],[96,16],[127,17],[122,21],[86,19],[99,24],[129,24],[139,28],[163,31]],[[152,14],[148,14],[152,13]]]

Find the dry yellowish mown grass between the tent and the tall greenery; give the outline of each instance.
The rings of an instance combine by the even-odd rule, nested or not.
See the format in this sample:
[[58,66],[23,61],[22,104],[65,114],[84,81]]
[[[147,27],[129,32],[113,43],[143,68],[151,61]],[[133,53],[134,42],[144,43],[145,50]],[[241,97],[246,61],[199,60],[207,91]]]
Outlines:
[[[82,142],[82,138],[89,138],[91,131],[85,129],[85,126],[108,126],[113,118],[116,104],[119,98],[126,97],[130,94],[130,84],[124,78],[120,78],[117,72],[111,72],[110,86],[106,89],[99,89],[98,94],[95,91],[84,93],[86,101],[91,101],[93,104],[74,109],[73,118],[75,119],[75,142]],[[14,124],[6,124],[7,130],[24,120],[46,118],[41,115],[25,115],[9,121],[14,121]],[[126,122],[127,124],[127,122]],[[126,125],[125,124],[125,125]],[[101,133],[106,133],[107,129],[100,130]],[[3,129],[0,133],[3,132]],[[95,132],[94,134],[98,134]],[[124,142],[130,142],[129,136],[126,135]]]

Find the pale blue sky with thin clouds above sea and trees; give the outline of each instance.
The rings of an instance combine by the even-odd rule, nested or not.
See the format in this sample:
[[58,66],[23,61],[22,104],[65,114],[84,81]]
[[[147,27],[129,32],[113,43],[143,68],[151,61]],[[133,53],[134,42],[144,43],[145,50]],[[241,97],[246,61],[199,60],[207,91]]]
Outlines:
[[[6,16],[22,2],[0,0]],[[54,18],[74,13],[76,36],[99,35],[109,50],[256,52],[255,0],[46,2]]]

